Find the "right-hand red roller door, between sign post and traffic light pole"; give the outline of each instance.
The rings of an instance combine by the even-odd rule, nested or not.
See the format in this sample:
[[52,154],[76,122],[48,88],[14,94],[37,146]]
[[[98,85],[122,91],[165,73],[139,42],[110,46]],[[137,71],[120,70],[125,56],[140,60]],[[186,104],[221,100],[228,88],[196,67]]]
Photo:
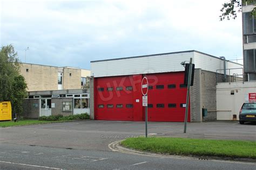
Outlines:
[[[148,104],[153,105],[152,108],[147,109],[148,120],[184,122],[185,108],[180,107],[186,103],[187,88],[180,87],[184,81],[184,72],[148,74],[146,76],[149,80],[149,86],[153,87],[148,92]],[[159,85],[163,85],[164,88]],[[176,104],[175,107],[174,104]],[[190,122],[190,109],[188,110],[188,122]]]

